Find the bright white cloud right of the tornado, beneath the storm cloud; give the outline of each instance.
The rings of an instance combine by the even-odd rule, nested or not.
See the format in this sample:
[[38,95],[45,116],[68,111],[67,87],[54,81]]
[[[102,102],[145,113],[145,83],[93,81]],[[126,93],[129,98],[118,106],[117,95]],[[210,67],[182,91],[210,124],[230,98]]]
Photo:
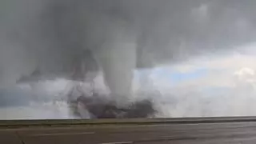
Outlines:
[[203,56],[166,68],[166,73],[174,70],[182,74],[206,70],[199,78],[174,83],[153,74],[158,90],[165,94],[163,101],[174,101],[171,105],[159,104],[163,116],[255,116],[255,48],[251,43],[226,54]]

